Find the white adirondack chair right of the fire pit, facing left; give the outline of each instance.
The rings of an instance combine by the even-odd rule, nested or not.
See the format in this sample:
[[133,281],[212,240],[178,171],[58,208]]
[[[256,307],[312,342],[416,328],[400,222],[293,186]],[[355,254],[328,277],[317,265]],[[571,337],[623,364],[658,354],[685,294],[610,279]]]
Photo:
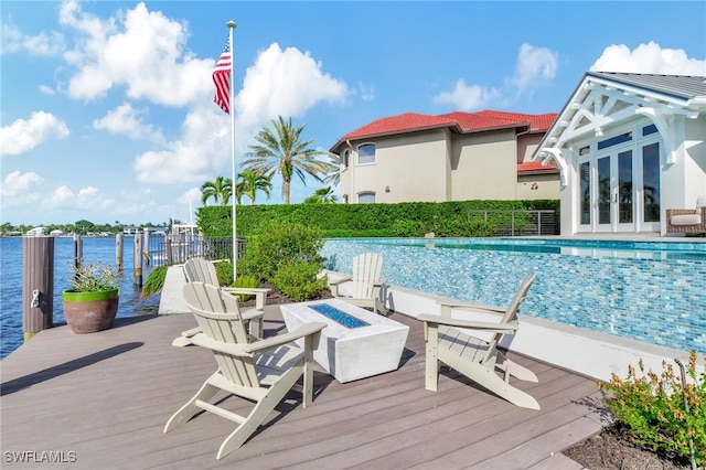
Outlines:
[[[525,277],[507,308],[442,303],[441,316],[425,313],[418,317],[424,321],[427,341],[425,384],[427,389],[437,391],[439,366],[446,364],[517,406],[539,409],[539,404],[530,394],[510,385],[510,376],[528,382],[537,382],[537,376],[528,368],[512,362],[498,350],[498,344],[505,334],[514,334],[517,331],[517,310],[535,277],[534,273]],[[451,318],[451,308],[493,313],[500,321],[493,323]],[[493,334],[490,341],[484,341],[460,329]],[[503,372],[503,377],[499,376],[495,370]]]

